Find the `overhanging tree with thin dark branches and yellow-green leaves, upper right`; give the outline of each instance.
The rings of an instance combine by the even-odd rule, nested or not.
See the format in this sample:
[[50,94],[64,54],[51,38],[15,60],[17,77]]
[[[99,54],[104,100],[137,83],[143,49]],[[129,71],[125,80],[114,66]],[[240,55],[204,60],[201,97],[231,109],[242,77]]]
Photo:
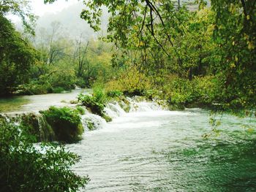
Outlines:
[[[199,9],[206,6],[206,1],[196,2]],[[255,107],[255,1],[211,0],[212,12],[206,17],[215,19],[206,23],[213,31],[206,39],[189,28],[194,14],[179,1],[89,0],[85,4],[80,16],[95,31],[99,31],[102,7],[108,8],[107,39],[122,52],[118,60],[129,61],[150,75],[169,72],[191,80],[193,69],[207,61],[211,74],[219,78],[222,95],[218,103],[229,108]],[[203,20],[200,22],[204,25]],[[195,42],[197,47],[185,47],[193,42],[187,37],[201,42]]]

